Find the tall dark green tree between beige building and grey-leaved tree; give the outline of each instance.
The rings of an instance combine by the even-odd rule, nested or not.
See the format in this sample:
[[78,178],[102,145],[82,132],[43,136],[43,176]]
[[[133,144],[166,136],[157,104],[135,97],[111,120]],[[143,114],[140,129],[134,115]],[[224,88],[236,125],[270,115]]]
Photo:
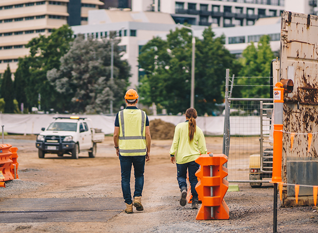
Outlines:
[[[39,35],[33,38],[26,45],[27,48],[30,48],[30,55],[19,60],[17,76],[20,81],[21,75],[25,79],[24,91],[27,106],[37,106],[38,94],[41,94],[41,107],[44,110],[50,108],[64,110],[64,100],[50,84],[46,74],[48,70],[59,68],[61,65],[59,59],[69,50],[70,42],[73,41],[72,35],[71,28],[64,25],[61,28],[52,29],[52,34],[47,37]],[[18,96],[18,99],[18,102],[21,103],[21,96]]]

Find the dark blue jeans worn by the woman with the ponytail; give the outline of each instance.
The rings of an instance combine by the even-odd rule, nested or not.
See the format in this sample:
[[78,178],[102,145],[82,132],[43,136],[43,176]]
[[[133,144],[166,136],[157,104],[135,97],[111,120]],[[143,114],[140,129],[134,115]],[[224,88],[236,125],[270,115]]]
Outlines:
[[197,192],[195,190],[195,185],[197,184],[197,177],[195,176],[195,172],[199,169],[200,165],[195,163],[195,161],[191,161],[185,164],[176,164],[177,169],[177,180],[179,184],[179,188],[187,187],[187,169],[189,171],[189,182],[191,185],[191,193],[193,198],[197,198]]

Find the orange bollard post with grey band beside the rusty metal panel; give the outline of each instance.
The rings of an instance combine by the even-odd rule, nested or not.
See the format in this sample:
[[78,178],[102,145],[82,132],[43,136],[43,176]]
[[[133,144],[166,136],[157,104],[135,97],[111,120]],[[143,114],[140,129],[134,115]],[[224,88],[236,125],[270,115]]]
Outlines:
[[274,88],[274,146],[273,146],[273,174],[270,183],[282,182],[282,151],[283,151],[283,105],[284,88],[281,82]]

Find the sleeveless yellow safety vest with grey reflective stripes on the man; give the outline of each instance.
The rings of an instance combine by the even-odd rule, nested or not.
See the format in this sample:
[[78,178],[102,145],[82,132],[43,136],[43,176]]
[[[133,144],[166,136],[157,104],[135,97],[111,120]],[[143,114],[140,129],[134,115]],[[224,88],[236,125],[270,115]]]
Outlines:
[[146,112],[140,109],[124,109],[118,113],[121,156],[146,155],[146,117]]

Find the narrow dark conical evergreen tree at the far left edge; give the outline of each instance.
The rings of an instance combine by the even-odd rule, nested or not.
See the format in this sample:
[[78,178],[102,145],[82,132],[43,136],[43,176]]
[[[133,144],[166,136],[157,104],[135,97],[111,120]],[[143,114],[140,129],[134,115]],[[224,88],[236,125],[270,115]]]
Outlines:
[[11,70],[8,64],[8,67],[3,75],[3,81],[1,84],[1,93],[5,101],[5,113],[13,113],[14,112],[14,89],[13,82],[11,78]]

